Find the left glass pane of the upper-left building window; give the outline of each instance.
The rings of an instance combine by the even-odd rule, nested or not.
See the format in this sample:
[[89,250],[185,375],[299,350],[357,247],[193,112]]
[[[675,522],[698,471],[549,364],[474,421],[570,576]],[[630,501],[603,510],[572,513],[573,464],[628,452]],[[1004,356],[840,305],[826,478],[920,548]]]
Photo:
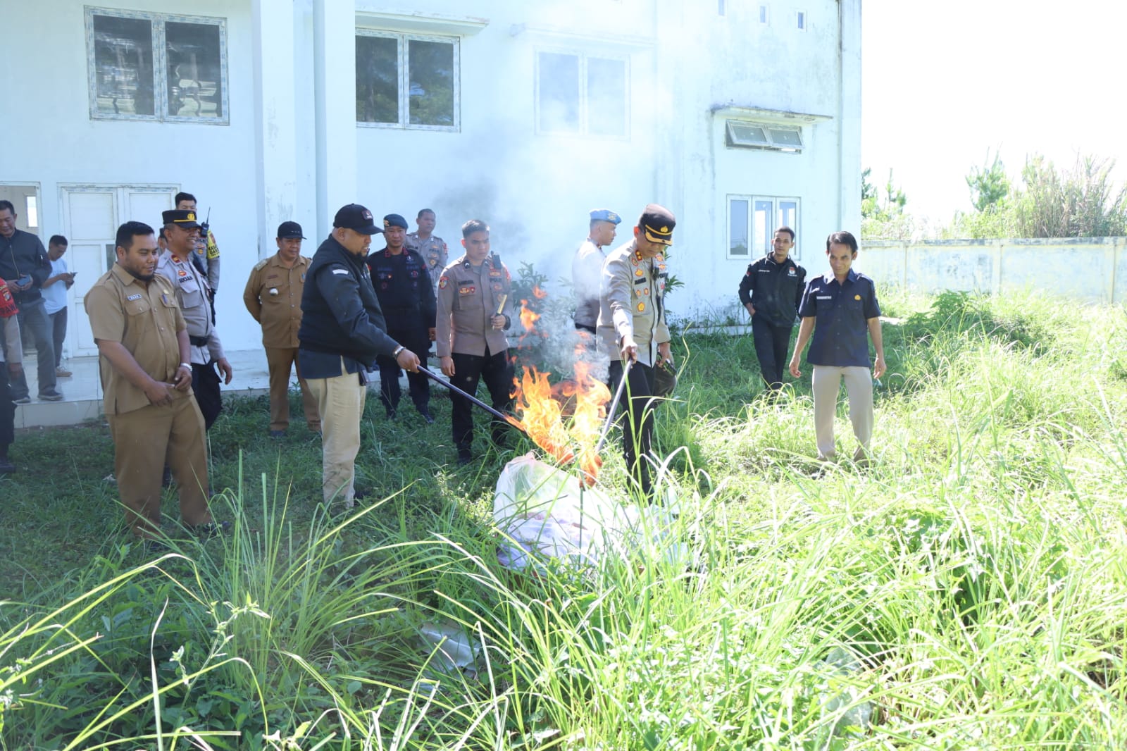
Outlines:
[[92,27],[95,111],[105,115],[156,115],[152,21],[94,16]]

